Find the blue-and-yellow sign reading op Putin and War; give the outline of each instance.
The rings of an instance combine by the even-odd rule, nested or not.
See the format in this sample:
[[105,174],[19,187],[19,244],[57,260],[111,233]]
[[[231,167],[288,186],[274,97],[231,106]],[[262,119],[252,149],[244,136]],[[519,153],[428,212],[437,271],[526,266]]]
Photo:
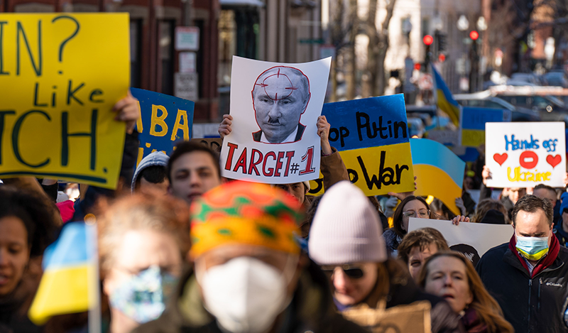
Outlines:
[[[324,104],[329,143],[365,195],[414,190],[413,159],[403,94]],[[322,175],[310,194],[323,191]]]

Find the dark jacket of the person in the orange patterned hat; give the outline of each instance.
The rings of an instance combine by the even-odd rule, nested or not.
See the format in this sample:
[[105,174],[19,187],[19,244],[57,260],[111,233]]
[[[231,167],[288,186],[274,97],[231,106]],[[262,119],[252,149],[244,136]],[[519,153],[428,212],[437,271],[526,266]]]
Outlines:
[[[132,333],[222,333],[203,306],[193,272],[187,272],[181,281],[163,314]],[[283,313],[281,333],[366,333],[336,312],[327,278],[311,261]]]

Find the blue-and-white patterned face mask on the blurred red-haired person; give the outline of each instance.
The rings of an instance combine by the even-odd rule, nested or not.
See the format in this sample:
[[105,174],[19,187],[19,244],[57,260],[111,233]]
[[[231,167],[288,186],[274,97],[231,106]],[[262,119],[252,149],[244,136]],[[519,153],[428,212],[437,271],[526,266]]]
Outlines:
[[158,266],[151,266],[131,275],[111,293],[111,307],[139,324],[155,320],[165,310],[167,298],[173,293],[178,280]]

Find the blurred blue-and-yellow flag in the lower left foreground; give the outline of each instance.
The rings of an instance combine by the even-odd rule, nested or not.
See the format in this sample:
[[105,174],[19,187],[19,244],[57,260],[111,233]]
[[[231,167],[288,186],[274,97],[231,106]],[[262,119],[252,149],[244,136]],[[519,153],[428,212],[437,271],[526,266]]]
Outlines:
[[83,222],[65,224],[59,239],[45,249],[43,276],[28,312],[35,324],[53,315],[99,307],[97,231]]

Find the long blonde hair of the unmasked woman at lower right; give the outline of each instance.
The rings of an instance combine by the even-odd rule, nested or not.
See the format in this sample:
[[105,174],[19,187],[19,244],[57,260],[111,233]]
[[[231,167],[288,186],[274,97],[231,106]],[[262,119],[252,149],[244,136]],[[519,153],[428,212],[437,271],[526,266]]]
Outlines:
[[422,289],[425,288],[426,277],[429,273],[429,265],[432,261],[440,257],[457,258],[466,266],[469,291],[471,292],[471,295],[474,296],[474,300],[469,306],[475,310],[479,320],[486,324],[487,332],[513,333],[513,326],[511,326],[511,324],[503,318],[503,311],[501,311],[501,307],[485,289],[483,282],[481,282],[481,278],[479,278],[479,275],[475,271],[474,264],[471,263],[471,261],[469,261],[469,259],[463,254],[456,251],[442,251],[433,254],[430,258],[427,258],[422,265],[420,273],[418,274],[418,285],[420,285]]

